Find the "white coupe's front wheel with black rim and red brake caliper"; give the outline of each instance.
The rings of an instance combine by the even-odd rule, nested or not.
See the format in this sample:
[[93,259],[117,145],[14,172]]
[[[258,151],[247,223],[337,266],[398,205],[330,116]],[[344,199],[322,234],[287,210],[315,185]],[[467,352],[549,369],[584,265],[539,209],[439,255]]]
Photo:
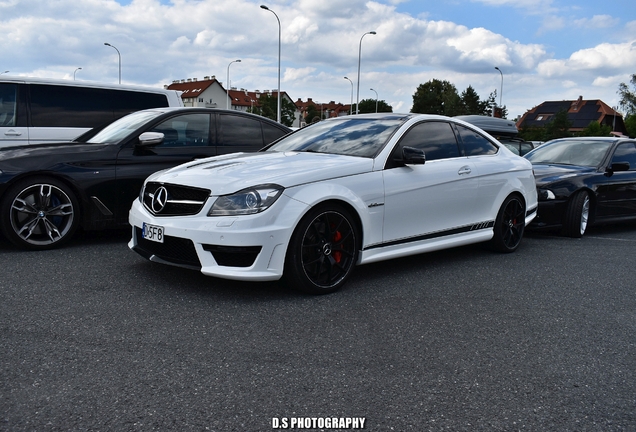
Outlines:
[[285,280],[309,294],[338,290],[356,265],[359,242],[358,226],[347,210],[337,205],[312,209],[291,237]]

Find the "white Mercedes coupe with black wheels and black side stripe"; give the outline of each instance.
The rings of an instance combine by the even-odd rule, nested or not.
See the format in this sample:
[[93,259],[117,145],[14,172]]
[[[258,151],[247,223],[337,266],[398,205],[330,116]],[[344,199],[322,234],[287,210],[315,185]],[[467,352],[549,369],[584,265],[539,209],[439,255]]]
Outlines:
[[321,294],[356,264],[476,242],[512,252],[536,209],[530,162],[474,126],[365,114],[153,174],[130,210],[129,246],[150,261],[284,276]]

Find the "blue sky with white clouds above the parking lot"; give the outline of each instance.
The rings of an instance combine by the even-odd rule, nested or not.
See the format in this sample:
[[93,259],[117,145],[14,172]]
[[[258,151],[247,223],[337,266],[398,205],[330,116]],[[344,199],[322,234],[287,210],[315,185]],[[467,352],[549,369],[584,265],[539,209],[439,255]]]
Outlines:
[[[419,84],[500,91],[516,117],[545,100],[602,99],[636,73],[633,0],[0,0],[9,75],[163,86],[215,75],[249,90],[277,86],[293,100],[349,103],[379,98],[408,112]],[[354,95],[355,99],[355,95]]]

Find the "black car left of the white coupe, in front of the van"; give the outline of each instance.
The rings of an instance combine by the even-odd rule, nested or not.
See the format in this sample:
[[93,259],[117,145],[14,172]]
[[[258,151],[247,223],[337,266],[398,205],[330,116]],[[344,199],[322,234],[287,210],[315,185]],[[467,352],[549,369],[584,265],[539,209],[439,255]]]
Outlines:
[[236,111],[158,108],[72,142],[0,148],[0,228],[15,245],[38,250],[63,244],[79,227],[125,227],[150,174],[198,158],[257,151],[290,131]]

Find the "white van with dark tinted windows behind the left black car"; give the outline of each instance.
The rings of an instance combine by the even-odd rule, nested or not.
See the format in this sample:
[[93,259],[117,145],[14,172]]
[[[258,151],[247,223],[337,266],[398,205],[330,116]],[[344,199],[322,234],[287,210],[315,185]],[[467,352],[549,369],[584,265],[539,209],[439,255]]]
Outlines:
[[179,92],[0,76],[0,148],[70,141],[134,111],[183,106]]

